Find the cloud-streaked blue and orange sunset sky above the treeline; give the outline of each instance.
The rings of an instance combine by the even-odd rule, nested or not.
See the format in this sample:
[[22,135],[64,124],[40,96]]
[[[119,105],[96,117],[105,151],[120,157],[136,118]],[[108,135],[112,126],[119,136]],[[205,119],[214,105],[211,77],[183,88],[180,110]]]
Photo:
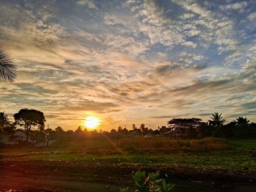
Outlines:
[[0,110],[46,125],[156,129],[172,118],[256,121],[256,1],[0,0],[0,46],[15,59]]

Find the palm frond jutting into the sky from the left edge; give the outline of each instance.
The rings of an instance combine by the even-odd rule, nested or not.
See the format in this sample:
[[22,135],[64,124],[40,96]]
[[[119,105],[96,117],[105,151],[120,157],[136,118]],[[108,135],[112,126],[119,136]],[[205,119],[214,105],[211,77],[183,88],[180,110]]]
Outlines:
[[16,65],[12,57],[5,50],[0,49],[0,79],[12,83],[16,76]]

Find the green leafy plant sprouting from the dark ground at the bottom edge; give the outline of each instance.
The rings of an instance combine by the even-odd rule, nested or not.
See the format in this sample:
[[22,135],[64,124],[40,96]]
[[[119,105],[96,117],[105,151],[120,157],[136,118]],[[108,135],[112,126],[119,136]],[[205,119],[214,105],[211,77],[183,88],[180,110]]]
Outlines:
[[[170,183],[166,183],[164,179],[160,179],[160,171],[156,171],[156,173],[149,173],[146,176],[145,171],[137,171],[131,174],[133,183],[139,192],[170,192],[174,185]],[[124,189],[120,189],[120,192],[127,192],[128,187]]]

